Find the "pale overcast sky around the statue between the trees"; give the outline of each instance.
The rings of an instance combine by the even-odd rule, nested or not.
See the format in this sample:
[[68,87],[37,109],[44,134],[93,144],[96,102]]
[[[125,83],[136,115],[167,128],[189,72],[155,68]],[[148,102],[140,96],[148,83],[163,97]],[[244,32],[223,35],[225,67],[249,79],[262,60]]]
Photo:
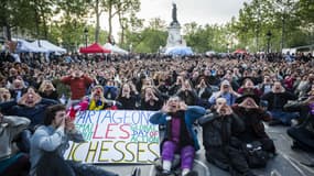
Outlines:
[[[140,0],[141,11],[137,14],[148,22],[150,19],[160,18],[169,24],[172,21],[172,2],[176,3],[177,20],[183,25],[190,22],[197,24],[224,24],[238,16],[243,2],[251,0]],[[104,23],[106,22],[106,23]],[[101,29],[108,30],[107,20],[101,20]],[[119,32],[118,21],[113,21],[113,33]]]

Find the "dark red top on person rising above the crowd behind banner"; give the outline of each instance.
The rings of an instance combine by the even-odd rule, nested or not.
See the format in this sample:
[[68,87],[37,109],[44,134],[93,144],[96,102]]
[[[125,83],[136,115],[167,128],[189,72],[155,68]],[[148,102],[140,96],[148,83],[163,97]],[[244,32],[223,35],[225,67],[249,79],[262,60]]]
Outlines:
[[73,76],[66,76],[63,77],[61,81],[69,86],[72,92],[71,99],[78,100],[86,95],[86,89],[90,86],[93,79],[85,75],[83,75],[79,78],[75,78]]

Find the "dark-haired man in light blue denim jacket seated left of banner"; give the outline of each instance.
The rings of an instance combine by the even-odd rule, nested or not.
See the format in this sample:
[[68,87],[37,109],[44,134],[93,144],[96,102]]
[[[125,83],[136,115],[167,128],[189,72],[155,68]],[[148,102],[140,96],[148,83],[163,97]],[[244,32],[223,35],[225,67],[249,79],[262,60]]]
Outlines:
[[[68,141],[85,142],[82,133],[66,116],[63,105],[47,108],[44,125],[40,127],[31,140],[31,176],[117,176],[97,166],[64,160]],[[53,165],[52,165],[53,163]]]

